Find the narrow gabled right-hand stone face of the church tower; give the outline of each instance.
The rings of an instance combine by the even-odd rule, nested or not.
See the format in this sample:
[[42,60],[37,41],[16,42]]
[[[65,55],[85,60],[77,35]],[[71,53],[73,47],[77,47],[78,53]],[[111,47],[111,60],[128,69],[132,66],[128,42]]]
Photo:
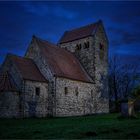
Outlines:
[[[101,50],[100,45],[103,49]],[[99,97],[98,112],[104,108],[109,112],[108,96],[108,40],[103,26],[100,24],[95,34],[95,83]]]

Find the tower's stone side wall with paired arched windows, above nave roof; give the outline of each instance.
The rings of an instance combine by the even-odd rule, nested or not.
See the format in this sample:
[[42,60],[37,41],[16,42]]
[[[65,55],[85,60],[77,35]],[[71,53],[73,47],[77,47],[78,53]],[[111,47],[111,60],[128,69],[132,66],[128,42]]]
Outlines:
[[[85,43],[89,42],[89,47],[85,48]],[[77,50],[77,45],[81,44],[81,49]],[[66,50],[74,53],[84,70],[88,73],[88,75],[95,80],[95,67],[94,67],[94,39],[93,37],[86,37],[83,39],[75,40],[68,43],[59,44],[61,48],[65,48]]]

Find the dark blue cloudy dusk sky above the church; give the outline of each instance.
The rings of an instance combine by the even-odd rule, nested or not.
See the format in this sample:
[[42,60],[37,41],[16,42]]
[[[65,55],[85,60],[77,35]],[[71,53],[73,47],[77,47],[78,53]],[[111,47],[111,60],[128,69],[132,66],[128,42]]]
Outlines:
[[110,55],[140,59],[140,2],[0,2],[0,63],[24,55],[32,35],[57,43],[65,30],[102,19]]

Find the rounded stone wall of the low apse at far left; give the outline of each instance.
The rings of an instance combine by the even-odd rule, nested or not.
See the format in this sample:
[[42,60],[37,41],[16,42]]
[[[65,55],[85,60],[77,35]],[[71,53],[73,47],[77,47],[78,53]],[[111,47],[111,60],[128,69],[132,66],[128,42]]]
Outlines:
[[19,102],[18,92],[0,92],[0,118],[19,118]]

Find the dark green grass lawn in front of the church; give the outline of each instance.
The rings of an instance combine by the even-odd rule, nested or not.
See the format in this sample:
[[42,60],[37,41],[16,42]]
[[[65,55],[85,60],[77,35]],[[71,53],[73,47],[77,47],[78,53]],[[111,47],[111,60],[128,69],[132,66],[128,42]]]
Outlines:
[[140,139],[137,119],[118,114],[46,119],[0,119],[0,139]]

